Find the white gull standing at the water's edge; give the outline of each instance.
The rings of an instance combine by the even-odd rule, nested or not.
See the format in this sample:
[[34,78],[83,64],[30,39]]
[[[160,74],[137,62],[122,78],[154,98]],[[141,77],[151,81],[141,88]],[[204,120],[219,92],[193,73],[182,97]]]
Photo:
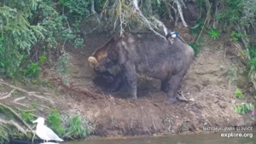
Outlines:
[[38,123],[36,134],[38,137],[44,141],[63,141],[58,135],[55,134],[52,130],[50,130],[47,126],[44,125],[44,118],[38,118],[32,123]]

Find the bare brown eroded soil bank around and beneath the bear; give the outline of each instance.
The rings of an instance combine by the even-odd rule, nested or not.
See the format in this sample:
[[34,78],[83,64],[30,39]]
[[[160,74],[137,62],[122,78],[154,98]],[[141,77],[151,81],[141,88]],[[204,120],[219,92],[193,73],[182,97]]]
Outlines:
[[[174,30],[187,43],[195,40],[189,34],[189,29],[183,26],[176,26]],[[20,102],[43,102],[42,105],[46,107],[41,107],[42,111],[38,113],[41,116],[44,116],[47,107],[55,107],[63,113],[77,112],[93,122],[92,135],[100,136],[177,134],[198,132],[210,126],[244,126],[255,123],[255,116],[234,112],[234,107],[241,102],[253,101],[256,104],[253,85],[248,83],[241,71],[237,72],[236,81],[244,95],[241,100],[235,96],[236,87],[227,80],[225,73],[230,66],[243,68],[238,57],[233,55],[236,45],[225,47],[224,42],[213,41],[206,36],[201,52],[182,82],[183,94],[195,101],[177,101],[169,105],[166,104],[166,94],[160,91],[160,82],[155,79],[139,78],[137,100],[123,99],[125,88],[109,94],[92,83],[96,74],[87,59],[108,38],[103,33],[84,36],[84,49],[67,49],[68,62],[72,64],[68,71],[69,85],[65,85],[49,66],[44,66],[42,78],[54,84],[57,89],[38,89],[32,85],[23,85],[23,89],[55,95],[43,95],[45,99],[34,96],[35,100],[29,98]]]

